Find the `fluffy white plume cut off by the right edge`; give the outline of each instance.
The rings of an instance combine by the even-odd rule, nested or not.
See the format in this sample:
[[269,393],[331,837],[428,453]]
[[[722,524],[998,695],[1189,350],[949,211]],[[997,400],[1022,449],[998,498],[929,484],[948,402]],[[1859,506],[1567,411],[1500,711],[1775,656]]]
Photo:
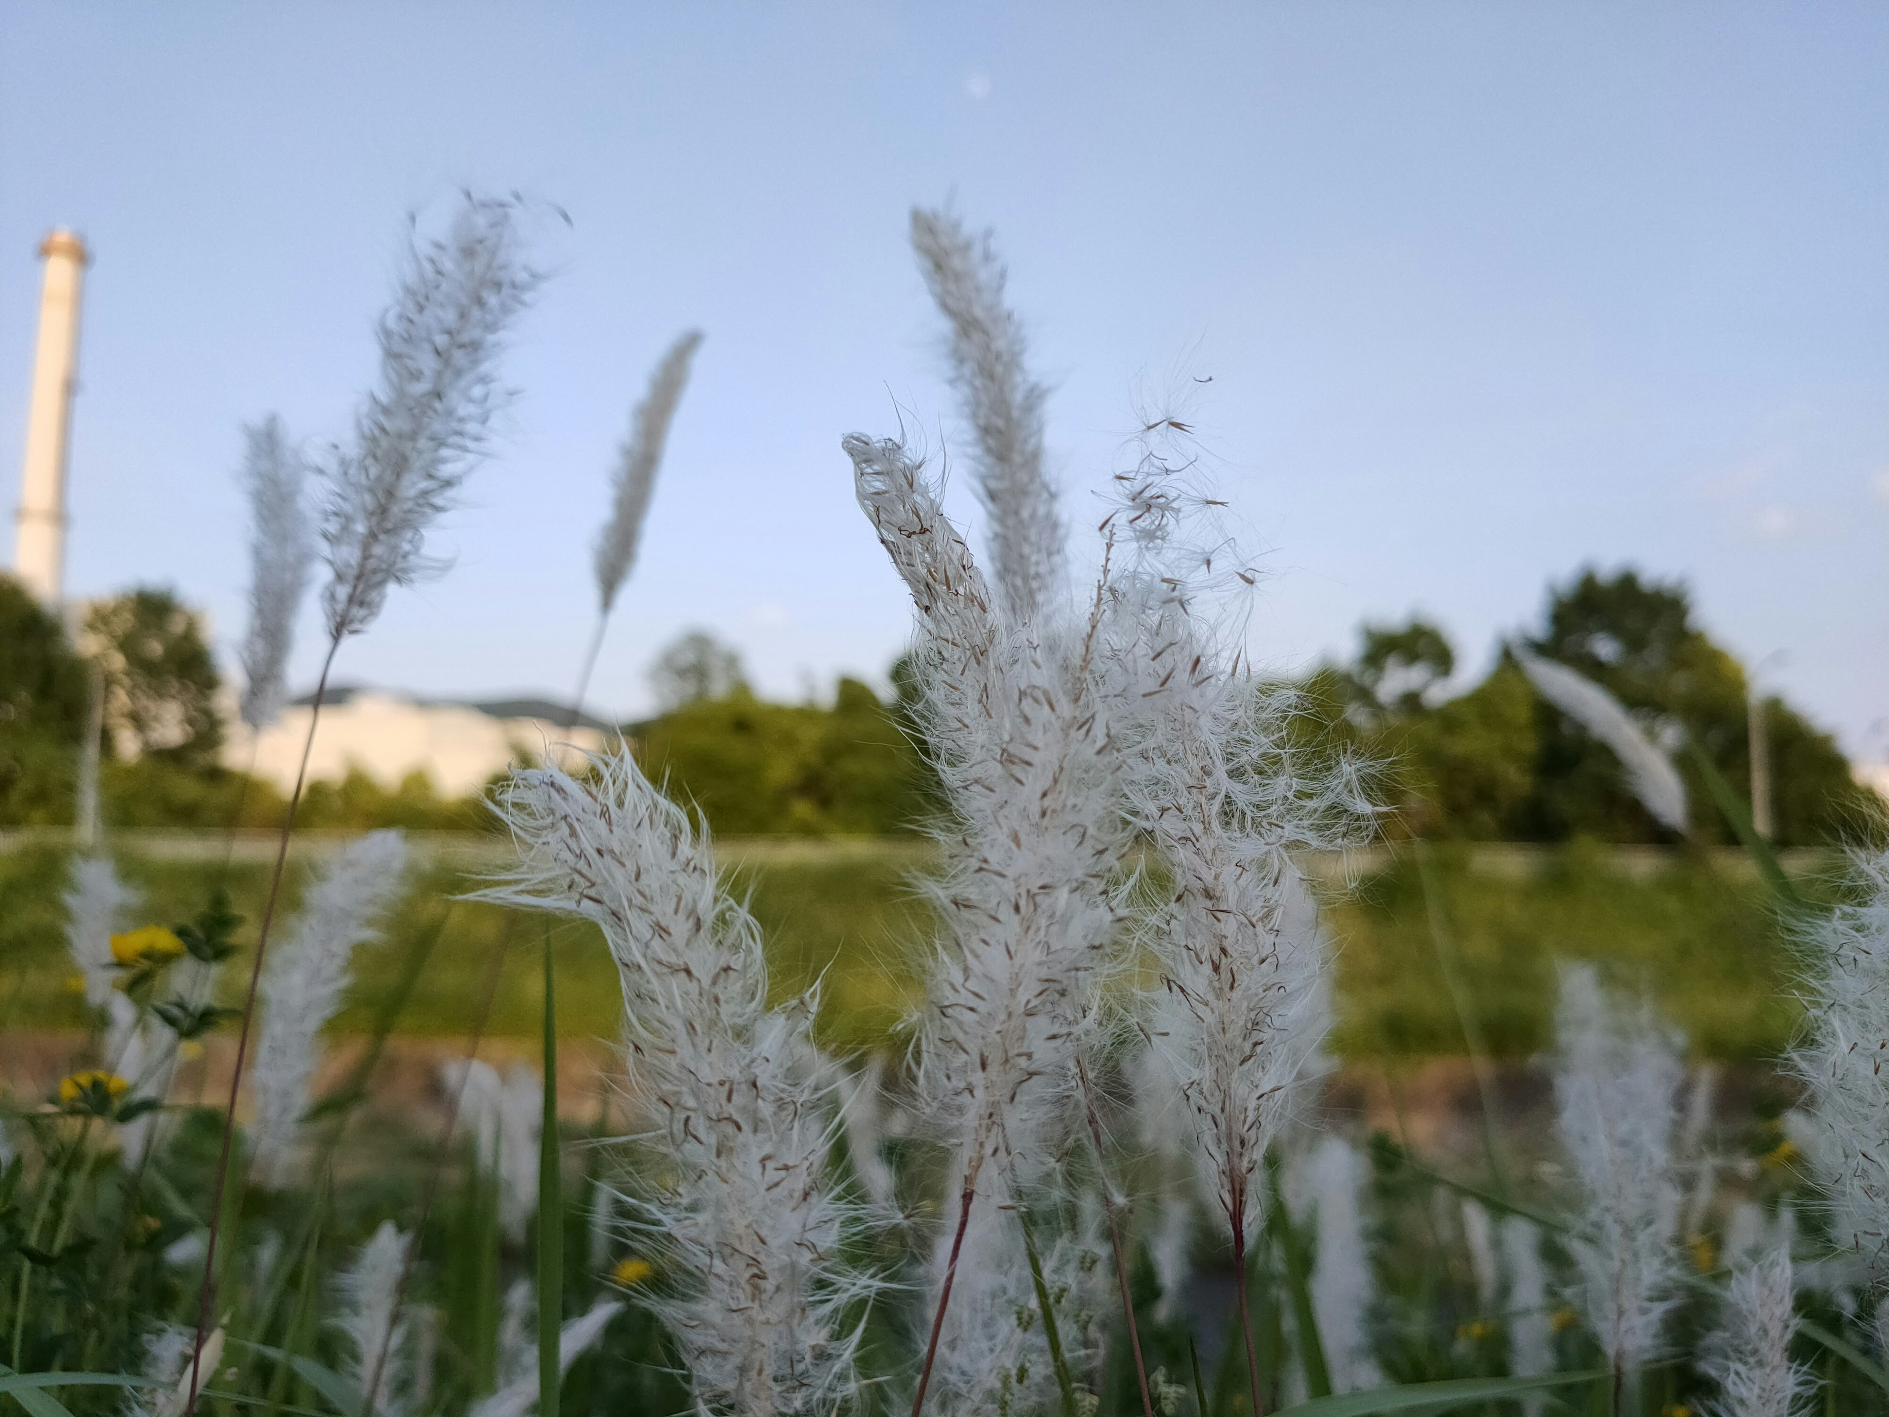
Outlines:
[[1857,894],[1806,930],[1810,1026],[1791,1052],[1830,1238],[1889,1273],[1889,852],[1853,856]]

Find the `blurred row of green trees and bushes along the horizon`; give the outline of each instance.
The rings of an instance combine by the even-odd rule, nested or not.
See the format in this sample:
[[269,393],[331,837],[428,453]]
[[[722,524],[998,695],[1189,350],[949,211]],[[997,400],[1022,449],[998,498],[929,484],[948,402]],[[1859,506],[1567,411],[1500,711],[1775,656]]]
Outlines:
[[[1751,780],[1747,671],[1693,618],[1683,584],[1594,569],[1549,588],[1524,642],[1611,690],[1655,735],[1691,737],[1740,790]],[[161,588],[87,606],[68,637],[0,578],[0,826],[72,820],[89,667],[104,686],[102,805],[117,829],[270,828],[280,794],[221,765],[227,691],[202,618]],[[1564,843],[1672,841],[1626,790],[1613,754],[1530,688],[1504,646],[1464,688],[1460,656],[1421,618],[1364,625],[1349,663],[1300,682],[1311,744],[1381,763],[1392,839]],[[773,703],[739,656],[701,629],[652,667],[661,712],[623,733],[646,773],[720,835],[876,837],[914,831],[937,786],[912,720],[907,665],[880,697],[839,680],[825,703]],[[1853,782],[1836,741],[1778,695],[1759,695],[1770,756],[1774,839],[1853,839],[1880,799]],[[1730,841],[1696,765],[1677,754],[1704,843]],[[442,797],[423,773],[387,786],[363,773],[308,788],[298,826],[493,829],[474,797]]]

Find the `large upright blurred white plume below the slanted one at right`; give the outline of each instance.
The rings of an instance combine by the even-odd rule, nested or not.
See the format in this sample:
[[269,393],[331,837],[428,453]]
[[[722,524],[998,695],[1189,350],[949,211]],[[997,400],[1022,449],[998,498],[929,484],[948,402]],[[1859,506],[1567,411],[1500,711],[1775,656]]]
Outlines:
[[1681,1045],[1649,1001],[1609,996],[1591,965],[1562,973],[1555,1035],[1555,1120],[1581,1185],[1577,1298],[1615,1370],[1632,1370],[1659,1351],[1681,1272]]

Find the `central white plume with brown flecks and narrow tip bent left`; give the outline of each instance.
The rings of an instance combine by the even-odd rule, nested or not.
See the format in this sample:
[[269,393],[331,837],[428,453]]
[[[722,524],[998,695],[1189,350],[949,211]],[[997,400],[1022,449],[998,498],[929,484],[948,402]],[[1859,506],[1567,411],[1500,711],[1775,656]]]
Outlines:
[[[960,1185],[1031,1164],[1069,1090],[1086,984],[1118,911],[1124,831],[1092,616],[1073,635],[1005,625],[969,546],[907,450],[850,435],[859,506],[918,608],[924,731],[952,803],[927,892],[944,922],[920,1083],[958,1143]],[[1099,606],[1099,601],[1098,601]],[[1018,1173],[1013,1181],[1028,1181]]]

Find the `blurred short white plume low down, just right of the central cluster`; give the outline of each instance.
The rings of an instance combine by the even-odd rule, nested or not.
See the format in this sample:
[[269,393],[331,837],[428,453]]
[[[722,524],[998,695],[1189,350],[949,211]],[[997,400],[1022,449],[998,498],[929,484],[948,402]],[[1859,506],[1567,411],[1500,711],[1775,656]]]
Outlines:
[[1371,1253],[1364,1236],[1364,1156],[1343,1137],[1319,1137],[1288,1171],[1288,1204],[1313,1215],[1317,1253],[1311,1304],[1319,1319],[1334,1392],[1377,1387],[1383,1374],[1371,1357],[1370,1311],[1377,1298]]

